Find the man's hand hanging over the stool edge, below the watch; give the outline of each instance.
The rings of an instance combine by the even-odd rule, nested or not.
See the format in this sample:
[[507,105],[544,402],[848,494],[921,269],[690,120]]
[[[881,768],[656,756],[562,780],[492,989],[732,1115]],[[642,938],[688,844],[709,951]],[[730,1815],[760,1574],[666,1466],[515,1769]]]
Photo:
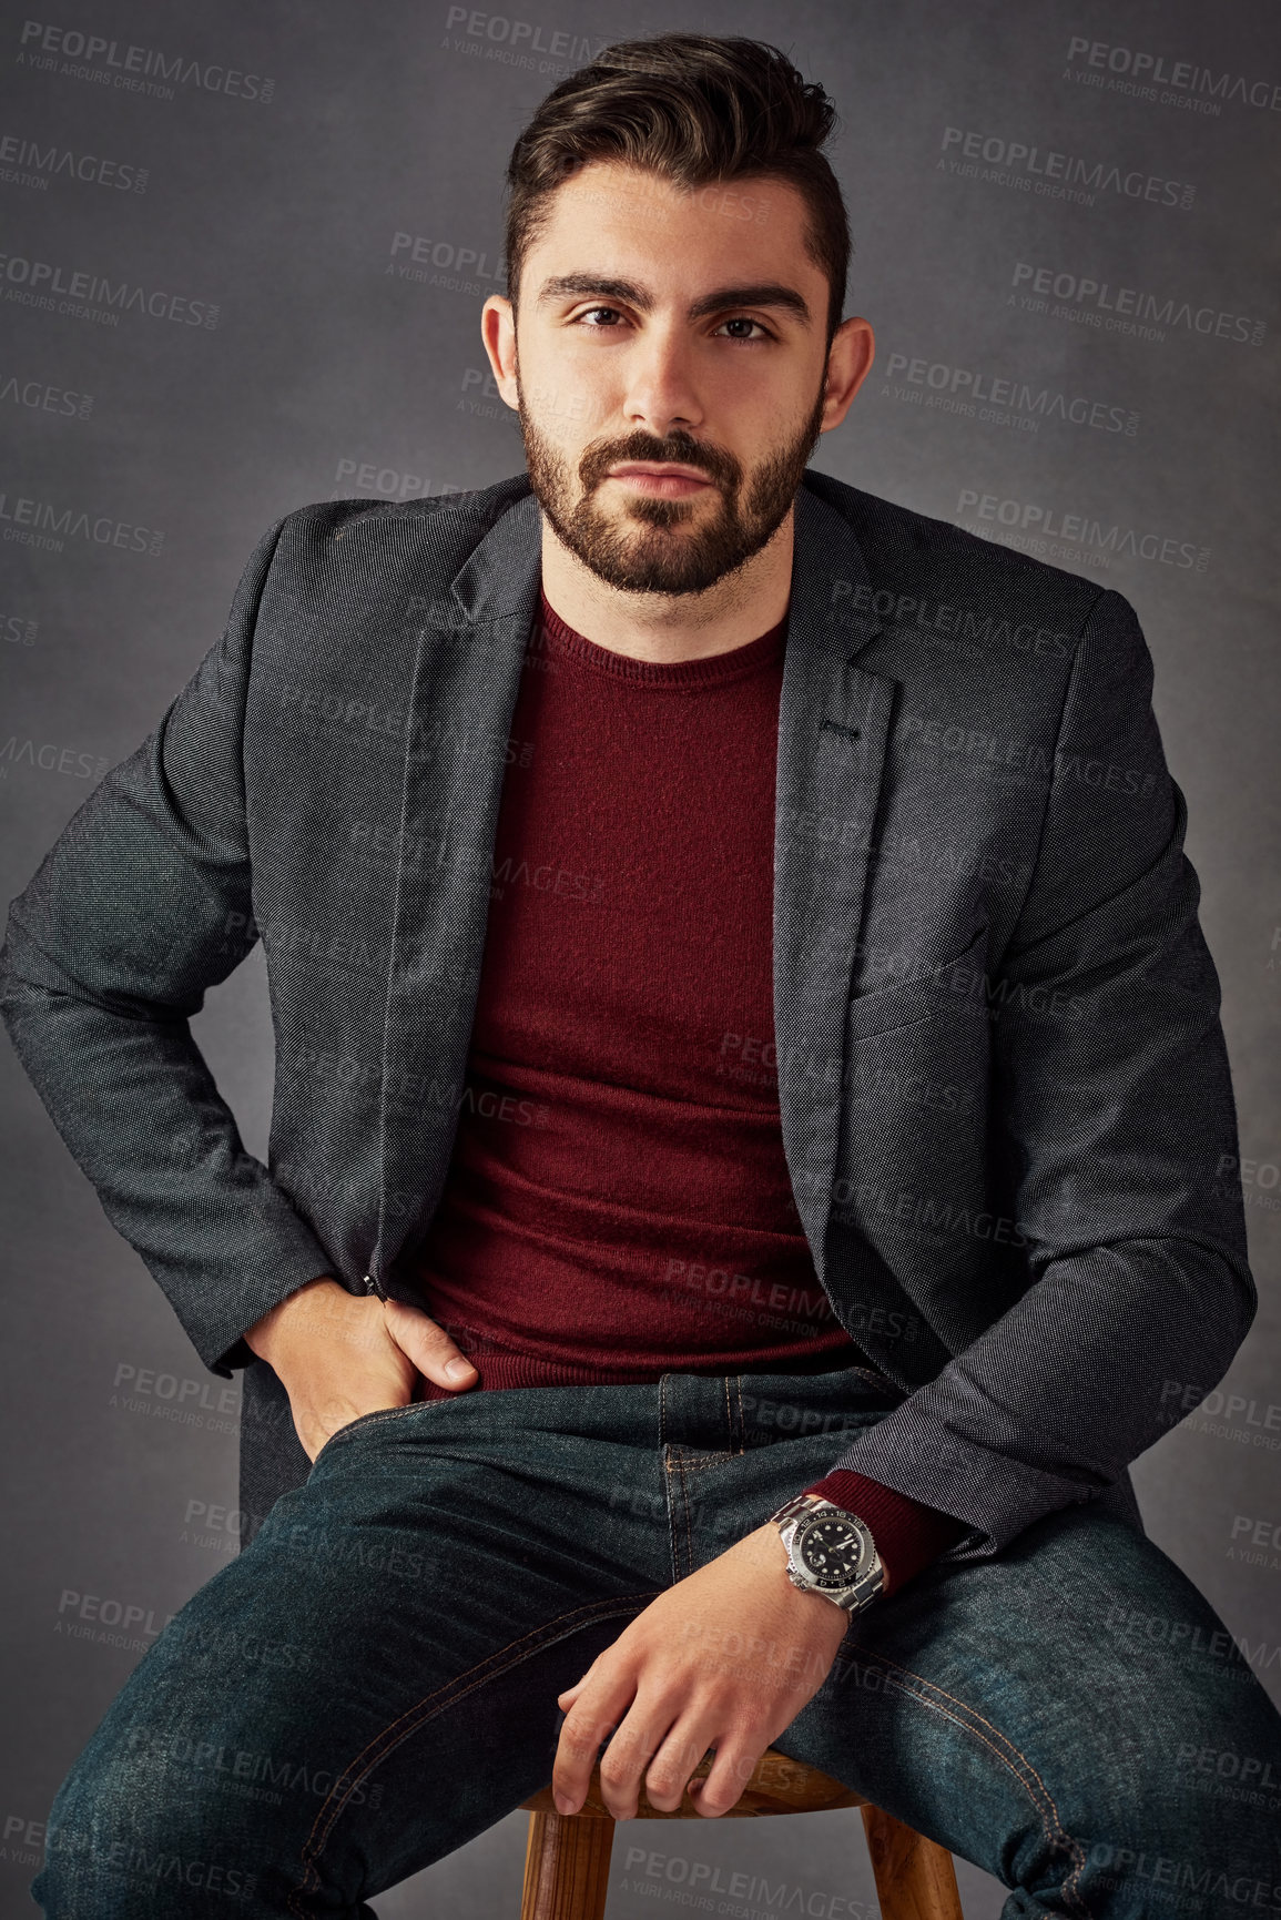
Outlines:
[[641,1774],[653,1807],[680,1807],[713,1745],[711,1772],[689,1791],[699,1812],[728,1812],[826,1680],[847,1626],[841,1607],[791,1584],[787,1549],[766,1521],[651,1601],[559,1695],[557,1807],[578,1812],[609,1738],[601,1797],[615,1820],[636,1818]]

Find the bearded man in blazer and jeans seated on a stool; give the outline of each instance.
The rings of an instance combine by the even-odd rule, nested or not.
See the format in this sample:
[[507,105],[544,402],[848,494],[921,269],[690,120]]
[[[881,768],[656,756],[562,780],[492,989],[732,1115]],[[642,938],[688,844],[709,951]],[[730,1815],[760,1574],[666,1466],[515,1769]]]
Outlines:
[[[528,480],[286,515],[13,902],[257,1515],[46,1914],[369,1912],[603,1743],[616,1818],[778,1743],[1006,1914],[1281,1908],[1189,1764],[1281,1722],[1125,1473],[1254,1306],[1150,659],[807,468],[872,363],[830,125],[759,42],[565,81],[482,315]],[[271,1169],[186,1025],[259,931]]]

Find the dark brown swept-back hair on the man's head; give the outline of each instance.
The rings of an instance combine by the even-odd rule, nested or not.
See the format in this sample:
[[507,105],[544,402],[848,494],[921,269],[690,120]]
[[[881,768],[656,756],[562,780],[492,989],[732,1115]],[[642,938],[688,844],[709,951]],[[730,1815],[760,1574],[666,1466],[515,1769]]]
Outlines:
[[766,40],[663,33],[603,48],[553,86],[511,150],[503,252],[513,309],[551,196],[588,161],[622,161],[686,190],[768,175],[805,200],[805,252],[828,276],[832,346],[851,255],[845,200],[822,154],[835,125],[824,88]]

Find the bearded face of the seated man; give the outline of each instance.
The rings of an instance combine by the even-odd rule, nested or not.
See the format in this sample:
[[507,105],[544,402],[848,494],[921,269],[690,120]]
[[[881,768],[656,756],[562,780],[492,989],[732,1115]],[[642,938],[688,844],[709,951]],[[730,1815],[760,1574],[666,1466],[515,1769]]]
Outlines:
[[511,380],[534,495],[611,588],[699,593],[787,516],[835,424],[828,280],[803,223],[801,196],[768,179],[686,194],[592,161],[557,188],[524,259]]

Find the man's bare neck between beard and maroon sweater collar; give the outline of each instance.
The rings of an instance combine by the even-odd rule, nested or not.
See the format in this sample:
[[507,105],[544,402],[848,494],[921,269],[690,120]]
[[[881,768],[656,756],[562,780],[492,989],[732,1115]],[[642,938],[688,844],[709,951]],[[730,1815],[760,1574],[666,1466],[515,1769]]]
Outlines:
[[624,593],[607,586],[542,516],[544,593],[584,639],[634,660],[703,660],[768,634],[787,611],[795,507],[761,553],[701,593]]

